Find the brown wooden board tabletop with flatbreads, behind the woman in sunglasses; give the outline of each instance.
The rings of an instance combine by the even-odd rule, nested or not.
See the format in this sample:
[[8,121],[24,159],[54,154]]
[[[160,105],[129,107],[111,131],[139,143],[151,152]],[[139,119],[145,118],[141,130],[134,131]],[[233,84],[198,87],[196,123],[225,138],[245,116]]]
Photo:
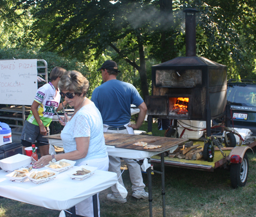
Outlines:
[[[115,140],[116,136],[116,140]],[[104,134],[105,137],[105,134]],[[111,137],[111,140],[110,140]],[[133,149],[140,151],[148,151],[148,152],[163,152],[177,144],[184,143],[188,139],[179,139],[179,138],[169,138],[169,137],[160,137],[160,136],[147,136],[147,135],[129,135],[121,134],[121,133],[113,133],[112,136],[105,137],[105,144],[115,146],[116,148],[123,149]],[[140,146],[133,146],[133,143],[143,141],[147,144],[154,144],[156,146],[162,146],[158,149],[143,149]],[[116,145],[115,145],[116,142]]]

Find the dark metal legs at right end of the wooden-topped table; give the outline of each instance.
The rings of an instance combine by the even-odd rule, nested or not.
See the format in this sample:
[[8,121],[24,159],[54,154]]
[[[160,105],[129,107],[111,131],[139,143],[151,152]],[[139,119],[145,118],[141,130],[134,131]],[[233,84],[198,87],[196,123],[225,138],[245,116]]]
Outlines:
[[[148,163],[151,164],[151,158],[147,158]],[[163,217],[165,217],[165,177],[164,177],[164,152],[161,153],[161,172],[151,170],[151,166],[147,168],[147,179],[148,179],[148,202],[150,203],[150,217],[153,216],[152,213],[152,175],[151,172],[161,174],[161,182],[162,182],[162,207],[163,207]]]

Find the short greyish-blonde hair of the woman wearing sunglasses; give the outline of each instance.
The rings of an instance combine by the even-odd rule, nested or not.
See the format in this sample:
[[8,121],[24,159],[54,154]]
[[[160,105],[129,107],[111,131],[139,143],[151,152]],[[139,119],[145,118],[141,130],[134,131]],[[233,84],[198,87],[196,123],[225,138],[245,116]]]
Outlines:
[[66,71],[58,83],[60,91],[74,91],[77,95],[85,96],[89,89],[89,81],[79,71]]

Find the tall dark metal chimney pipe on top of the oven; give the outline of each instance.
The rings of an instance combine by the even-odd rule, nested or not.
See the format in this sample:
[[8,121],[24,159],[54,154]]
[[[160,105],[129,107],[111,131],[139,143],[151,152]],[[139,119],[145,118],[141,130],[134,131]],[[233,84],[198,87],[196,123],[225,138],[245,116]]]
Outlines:
[[185,15],[185,34],[186,34],[186,57],[197,56],[196,45],[196,9],[189,8],[183,10]]

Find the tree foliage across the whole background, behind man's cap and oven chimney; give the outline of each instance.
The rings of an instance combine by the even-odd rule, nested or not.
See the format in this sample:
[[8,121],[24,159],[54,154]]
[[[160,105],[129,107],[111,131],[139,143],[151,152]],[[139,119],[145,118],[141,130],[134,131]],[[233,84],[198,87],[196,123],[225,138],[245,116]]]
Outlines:
[[22,29],[12,38],[8,31],[13,29],[4,28],[0,40],[8,36],[9,41],[3,44],[75,57],[88,65],[93,86],[101,80],[95,69],[103,60],[113,59],[122,71],[119,79],[148,94],[152,64],[185,56],[185,8],[199,11],[198,56],[227,65],[228,79],[256,78],[252,0],[20,0],[15,7],[14,0],[4,2],[9,5],[0,3],[0,7],[8,9],[9,23],[17,18],[13,23]]

